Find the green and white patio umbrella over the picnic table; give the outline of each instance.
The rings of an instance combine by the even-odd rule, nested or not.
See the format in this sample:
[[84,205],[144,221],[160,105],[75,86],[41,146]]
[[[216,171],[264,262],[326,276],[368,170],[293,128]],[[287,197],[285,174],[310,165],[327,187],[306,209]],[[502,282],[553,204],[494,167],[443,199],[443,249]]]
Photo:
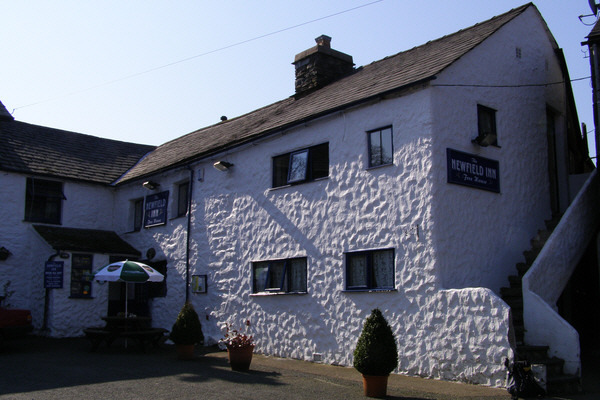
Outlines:
[[94,272],[97,281],[126,282],[125,317],[127,317],[127,283],[162,282],[164,275],[149,265],[137,261],[117,261]]

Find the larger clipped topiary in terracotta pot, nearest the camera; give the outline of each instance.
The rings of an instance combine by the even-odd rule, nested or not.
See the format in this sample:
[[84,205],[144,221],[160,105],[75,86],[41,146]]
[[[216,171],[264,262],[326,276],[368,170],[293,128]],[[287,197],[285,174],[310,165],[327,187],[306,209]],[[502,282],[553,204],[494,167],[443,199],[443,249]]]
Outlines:
[[398,347],[392,328],[378,308],[363,325],[354,350],[354,368],[363,375],[365,396],[383,398],[390,372],[398,366]]

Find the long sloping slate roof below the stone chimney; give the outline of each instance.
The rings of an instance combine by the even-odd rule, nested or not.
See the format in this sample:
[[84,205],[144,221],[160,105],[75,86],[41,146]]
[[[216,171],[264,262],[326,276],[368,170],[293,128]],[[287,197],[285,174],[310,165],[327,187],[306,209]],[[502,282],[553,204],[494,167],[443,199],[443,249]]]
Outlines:
[[[264,108],[167,142],[120,180],[126,182],[209,157],[259,137],[368,102],[435,76],[522,14],[528,3],[470,28],[384,58],[305,97],[289,97]],[[536,9],[537,10],[537,9]]]

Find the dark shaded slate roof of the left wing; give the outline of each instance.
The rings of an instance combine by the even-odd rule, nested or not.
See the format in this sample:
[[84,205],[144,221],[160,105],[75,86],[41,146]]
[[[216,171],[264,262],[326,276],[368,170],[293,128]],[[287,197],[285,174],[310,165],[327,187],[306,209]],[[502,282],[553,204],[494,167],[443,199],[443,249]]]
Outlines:
[[0,115],[0,170],[4,171],[110,184],[155,148],[8,117]]

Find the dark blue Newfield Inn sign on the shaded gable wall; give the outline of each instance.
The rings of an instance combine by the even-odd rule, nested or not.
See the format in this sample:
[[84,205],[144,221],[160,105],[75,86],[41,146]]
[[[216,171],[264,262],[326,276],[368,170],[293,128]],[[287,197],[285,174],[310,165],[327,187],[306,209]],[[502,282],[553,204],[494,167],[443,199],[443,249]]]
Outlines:
[[448,183],[500,193],[500,164],[475,154],[446,149]]

